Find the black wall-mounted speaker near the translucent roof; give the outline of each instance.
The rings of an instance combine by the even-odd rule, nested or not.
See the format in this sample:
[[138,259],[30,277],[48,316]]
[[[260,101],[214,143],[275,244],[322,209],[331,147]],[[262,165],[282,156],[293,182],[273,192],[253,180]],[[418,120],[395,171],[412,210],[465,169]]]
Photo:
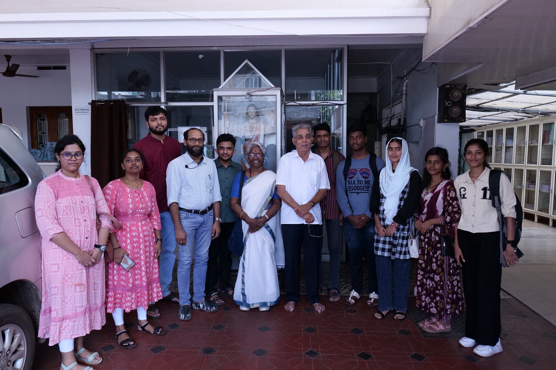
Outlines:
[[467,85],[441,85],[438,87],[437,122],[465,122]]

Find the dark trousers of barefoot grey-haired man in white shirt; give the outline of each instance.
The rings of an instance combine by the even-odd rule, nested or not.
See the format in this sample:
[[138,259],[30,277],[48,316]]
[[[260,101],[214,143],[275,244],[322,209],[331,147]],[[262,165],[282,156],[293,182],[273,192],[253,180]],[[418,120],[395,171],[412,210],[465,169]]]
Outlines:
[[301,249],[305,262],[305,287],[309,303],[319,303],[319,268],[322,225],[282,224],[284,240],[286,301],[299,301]]

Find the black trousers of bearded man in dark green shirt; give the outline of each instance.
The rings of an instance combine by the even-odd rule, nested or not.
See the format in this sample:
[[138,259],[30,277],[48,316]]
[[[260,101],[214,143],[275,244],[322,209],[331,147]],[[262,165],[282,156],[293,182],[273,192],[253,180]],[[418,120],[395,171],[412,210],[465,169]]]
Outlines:
[[220,235],[210,244],[205,282],[205,291],[209,294],[216,291],[215,286],[219,277],[221,290],[230,286],[232,252],[228,249],[228,239],[230,239],[235,224],[236,221],[222,222],[220,224]]

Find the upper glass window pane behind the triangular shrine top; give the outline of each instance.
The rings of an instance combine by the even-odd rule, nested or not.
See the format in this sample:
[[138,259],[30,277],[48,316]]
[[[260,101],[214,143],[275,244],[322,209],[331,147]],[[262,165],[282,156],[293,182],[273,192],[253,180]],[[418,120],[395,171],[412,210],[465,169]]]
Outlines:
[[[230,77],[246,59],[275,87],[282,87],[282,50],[226,50],[224,52],[224,80]],[[253,86],[247,85],[245,88],[259,87],[255,78],[251,82]]]

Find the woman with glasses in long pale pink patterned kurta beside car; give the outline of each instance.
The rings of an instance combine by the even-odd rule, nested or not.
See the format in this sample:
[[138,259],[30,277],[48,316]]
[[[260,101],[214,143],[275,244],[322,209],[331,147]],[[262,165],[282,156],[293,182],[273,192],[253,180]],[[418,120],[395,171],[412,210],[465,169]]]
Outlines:
[[[75,135],[58,140],[54,154],[61,167],[37,186],[35,214],[42,236],[42,308],[38,336],[58,343],[62,367],[82,370],[90,367],[77,361],[98,364],[98,352],[83,348],[83,336],[106,322],[105,266],[100,245],[106,245],[112,223],[101,215],[97,234],[96,218],[108,212],[97,180],[91,191],[78,172],[85,146]],[[95,247],[100,244],[99,247]],[[74,341],[75,339],[75,341]],[[76,353],[74,353],[76,349]]]

